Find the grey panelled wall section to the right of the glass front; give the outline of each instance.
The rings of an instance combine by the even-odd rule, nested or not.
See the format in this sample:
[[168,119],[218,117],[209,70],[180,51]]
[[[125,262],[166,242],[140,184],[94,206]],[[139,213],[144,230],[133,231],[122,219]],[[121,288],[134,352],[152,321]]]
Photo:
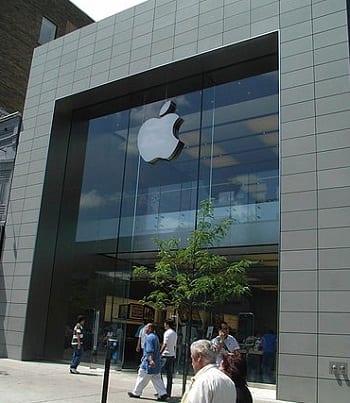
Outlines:
[[281,2],[280,14],[278,391],[296,401],[346,401],[344,378],[338,384],[329,374],[330,361],[350,357],[346,4],[296,3]]

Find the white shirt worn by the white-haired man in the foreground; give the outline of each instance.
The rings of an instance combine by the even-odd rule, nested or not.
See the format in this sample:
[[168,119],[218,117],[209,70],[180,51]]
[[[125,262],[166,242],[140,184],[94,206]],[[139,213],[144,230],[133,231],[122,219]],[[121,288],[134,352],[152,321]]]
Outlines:
[[233,381],[215,364],[209,364],[192,378],[181,403],[232,403],[236,401],[236,396]]

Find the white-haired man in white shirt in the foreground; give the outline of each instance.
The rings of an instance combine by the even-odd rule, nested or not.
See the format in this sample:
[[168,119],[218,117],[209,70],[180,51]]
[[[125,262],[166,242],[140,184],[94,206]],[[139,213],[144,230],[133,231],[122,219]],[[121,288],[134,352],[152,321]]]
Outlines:
[[181,403],[233,403],[236,387],[216,365],[217,352],[209,340],[191,344],[192,367],[195,376],[182,397]]

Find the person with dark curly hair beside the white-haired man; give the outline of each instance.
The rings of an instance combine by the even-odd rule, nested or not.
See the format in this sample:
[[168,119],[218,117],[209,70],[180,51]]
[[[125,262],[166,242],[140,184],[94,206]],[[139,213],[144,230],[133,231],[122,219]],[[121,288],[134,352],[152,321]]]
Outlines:
[[253,398],[247,385],[245,357],[239,353],[224,354],[219,369],[233,380],[237,392],[236,403],[252,403]]

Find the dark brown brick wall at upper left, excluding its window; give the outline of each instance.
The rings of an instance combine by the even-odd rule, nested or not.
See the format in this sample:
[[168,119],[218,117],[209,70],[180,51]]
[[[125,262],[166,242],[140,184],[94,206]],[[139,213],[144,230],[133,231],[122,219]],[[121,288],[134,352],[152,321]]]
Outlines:
[[1,0],[0,108],[22,112],[42,17],[57,26],[57,37],[93,20],[67,0]]

